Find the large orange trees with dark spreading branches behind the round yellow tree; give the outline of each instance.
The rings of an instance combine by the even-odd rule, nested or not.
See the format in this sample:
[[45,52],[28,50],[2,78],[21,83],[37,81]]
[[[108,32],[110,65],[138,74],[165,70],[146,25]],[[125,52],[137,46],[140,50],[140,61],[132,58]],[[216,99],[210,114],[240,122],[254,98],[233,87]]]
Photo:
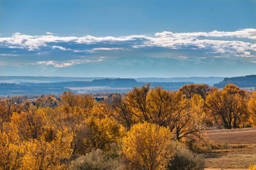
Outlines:
[[204,100],[199,94],[194,96],[197,97],[187,98],[180,92],[170,92],[162,87],[149,89],[143,86],[130,91],[124,97],[124,103],[133,120],[169,127],[180,141],[182,138],[198,138],[202,131],[203,122],[199,118],[202,110],[198,106],[202,106]]

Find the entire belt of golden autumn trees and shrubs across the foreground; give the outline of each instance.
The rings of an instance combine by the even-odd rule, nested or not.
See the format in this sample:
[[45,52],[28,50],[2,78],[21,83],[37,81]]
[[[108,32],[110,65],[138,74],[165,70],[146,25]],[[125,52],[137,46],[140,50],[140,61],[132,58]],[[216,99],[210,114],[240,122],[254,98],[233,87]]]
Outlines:
[[134,87],[96,101],[64,92],[0,101],[0,169],[204,169],[205,129],[252,127],[256,92]]

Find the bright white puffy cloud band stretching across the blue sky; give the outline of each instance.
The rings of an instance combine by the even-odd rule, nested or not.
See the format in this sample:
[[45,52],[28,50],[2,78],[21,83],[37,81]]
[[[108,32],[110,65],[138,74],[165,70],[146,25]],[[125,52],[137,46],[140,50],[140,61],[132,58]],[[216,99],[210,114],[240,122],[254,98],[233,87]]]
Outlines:
[[[230,53],[241,57],[254,56],[256,45],[237,39],[256,39],[256,29],[241,29],[234,32],[211,31],[211,32],[157,32],[154,36],[29,36],[13,34],[12,37],[0,38],[0,46],[6,48],[20,48],[30,51],[39,48],[52,48],[70,50],[72,52],[95,53],[100,50],[123,50],[129,48],[163,47],[170,49],[209,50],[211,53]],[[209,39],[210,38],[210,39]],[[211,39],[214,38],[214,39]],[[221,39],[218,39],[221,38]],[[236,40],[223,40],[223,38],[235,38]],[[65,47],[59,44],[65,44]],[[70,46],[70,43],[72,44]],[[51,44],[51,45],[50,45]]]

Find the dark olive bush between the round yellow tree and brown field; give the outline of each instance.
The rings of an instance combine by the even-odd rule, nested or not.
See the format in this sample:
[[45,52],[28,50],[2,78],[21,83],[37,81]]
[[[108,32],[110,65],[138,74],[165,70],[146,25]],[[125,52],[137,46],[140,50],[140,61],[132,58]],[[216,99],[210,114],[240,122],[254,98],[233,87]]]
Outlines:
[[177,152],[168,165],[169,170],[204,169],[204,157],[196,155],[182,145],[177,146]]

